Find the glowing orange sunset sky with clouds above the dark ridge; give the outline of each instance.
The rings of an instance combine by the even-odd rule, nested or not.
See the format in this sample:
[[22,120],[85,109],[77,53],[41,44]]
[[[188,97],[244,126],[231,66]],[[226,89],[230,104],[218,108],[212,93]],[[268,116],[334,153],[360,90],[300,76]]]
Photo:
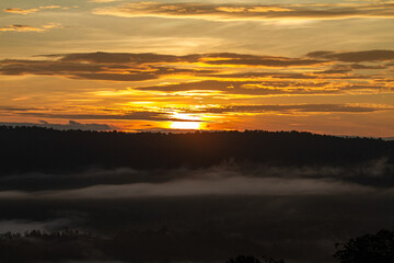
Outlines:
[[394,136],[394,1],[1,0],[0,123]]

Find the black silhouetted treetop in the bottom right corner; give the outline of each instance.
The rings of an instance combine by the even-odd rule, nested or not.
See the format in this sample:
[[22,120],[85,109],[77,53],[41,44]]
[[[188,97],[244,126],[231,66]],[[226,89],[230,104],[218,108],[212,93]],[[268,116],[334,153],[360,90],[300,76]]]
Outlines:
[[394,232],[380,230],[336,244],[334,258],[340,263],[393,263]]

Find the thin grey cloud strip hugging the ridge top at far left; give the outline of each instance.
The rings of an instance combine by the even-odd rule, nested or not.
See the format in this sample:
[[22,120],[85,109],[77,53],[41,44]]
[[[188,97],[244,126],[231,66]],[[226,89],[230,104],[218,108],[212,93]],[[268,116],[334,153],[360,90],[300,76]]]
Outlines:
[[82,124],[77,123],[74,121],[69,121],[68,124],[53,124],[45,121],[40,121],[39,123],[5,123],[1,122],[0,125],[5,126],[36,126],[44,128],[54,128],[54,129],[81,129],[81,130],[114,130],[117,129],[115,126],[107,124]]

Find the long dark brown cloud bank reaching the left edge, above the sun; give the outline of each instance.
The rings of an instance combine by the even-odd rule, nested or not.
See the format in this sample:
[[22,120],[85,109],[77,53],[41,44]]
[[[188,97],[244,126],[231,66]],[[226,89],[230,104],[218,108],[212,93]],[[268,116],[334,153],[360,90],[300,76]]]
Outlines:
[[[49,57],[58,57],[58,55],[49,55]],[[142,81],[178,73],[193,76],[217,72],[216,70],[160,66],[162,62],[171,61],[186,60],[182,57],[154,54],[73,54],[60,56],[57,60],[4,59],[0,61],[0,73],[11,76],[65,76],[91,80]]]

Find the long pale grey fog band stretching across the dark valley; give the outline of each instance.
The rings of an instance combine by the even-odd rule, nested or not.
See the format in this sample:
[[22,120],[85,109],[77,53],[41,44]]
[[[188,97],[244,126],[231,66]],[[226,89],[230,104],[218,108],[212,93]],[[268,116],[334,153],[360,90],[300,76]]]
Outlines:
[[165,183],[101,184],[78,190],[0,192],[2,198],[117,199],[182,196],[289,196],[373,193],[370,186],[332,179],[201,176]]

